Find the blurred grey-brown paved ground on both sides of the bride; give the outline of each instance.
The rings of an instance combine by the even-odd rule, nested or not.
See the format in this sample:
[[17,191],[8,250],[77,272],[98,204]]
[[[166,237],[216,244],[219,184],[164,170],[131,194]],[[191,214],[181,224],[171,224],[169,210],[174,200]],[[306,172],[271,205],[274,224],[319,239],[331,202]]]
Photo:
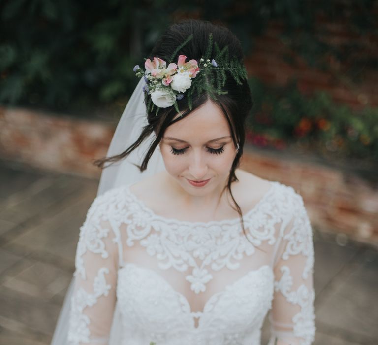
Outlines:
[[[0,161],[0,345],[50,344],[97,184]],[[345,240],[314,229],[315,345],[378,344],[377,251]]]

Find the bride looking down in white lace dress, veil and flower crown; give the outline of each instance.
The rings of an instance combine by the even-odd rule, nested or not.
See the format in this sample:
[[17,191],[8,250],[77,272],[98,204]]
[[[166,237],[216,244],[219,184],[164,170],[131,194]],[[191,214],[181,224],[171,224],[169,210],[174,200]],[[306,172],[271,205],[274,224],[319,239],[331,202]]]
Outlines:
[[312,344],[303,199],[238,168],[252,108],[239,40],[183,20],[144,68],[95,162],[52,345],[260,345],[267,314],[269,345]]

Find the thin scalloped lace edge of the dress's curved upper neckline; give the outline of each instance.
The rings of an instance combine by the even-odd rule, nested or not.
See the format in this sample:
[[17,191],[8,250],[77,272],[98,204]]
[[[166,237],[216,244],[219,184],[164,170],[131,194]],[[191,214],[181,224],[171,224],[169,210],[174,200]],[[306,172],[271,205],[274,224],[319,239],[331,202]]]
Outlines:
[[[246,221],[247,218],[254,212],[256,212],[259,207],[261,207],[261,205],[264,203],[264,201],[271,195],[274,193],[275,191],[275,186],[277,186],[279,184],[278,181],[268,181],[269,184],[270,184],[270,188],[264,193],[264,195],[260,198],[260,200],[254,205],[254,207],[252,207],[249,211],[247,211],[244,215],[243,215],[243,221]],[[162,220],[162,221],[165,221],[165,222],[169,222],[169,223],[175,223],[175,224],[179,224],[179,225],[189,225],[189,226],[193,226],[193,225],[198,225],[198,226],[212,226],[212,225],[224,225],[224,224],[235,224],[235,223],[238,223],[240,222],[240,217],[237,217],[237,218],[234,218],[234,219],[222,219],[222,220],[210,220],[210,221],[207,221],[207,222],[192,222],[192,221],[188,221],[188,220],[180,220],[180,219],[176,219],[176,218],[167,218],[167,217],[163,217],[161,215],[158,215],[156,214],[151,208],[147,207],[146,204],[140,200],[133,192],[131,192],[130,190],[130,186],[132,184],[127,184],[125,187],[126,187],[126,193],[132,197],[132,199],[146,212],[148,213],[151,217],[155,218],[155,219],[158,219],[158,220]]]

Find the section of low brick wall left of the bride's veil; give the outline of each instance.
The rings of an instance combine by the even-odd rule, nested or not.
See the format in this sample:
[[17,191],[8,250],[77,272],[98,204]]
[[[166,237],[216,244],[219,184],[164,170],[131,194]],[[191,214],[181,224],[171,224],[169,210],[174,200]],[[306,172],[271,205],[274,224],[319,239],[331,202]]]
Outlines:
[[0,107],[0,157],[41,169],[99,176],[115,124]]

